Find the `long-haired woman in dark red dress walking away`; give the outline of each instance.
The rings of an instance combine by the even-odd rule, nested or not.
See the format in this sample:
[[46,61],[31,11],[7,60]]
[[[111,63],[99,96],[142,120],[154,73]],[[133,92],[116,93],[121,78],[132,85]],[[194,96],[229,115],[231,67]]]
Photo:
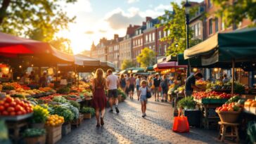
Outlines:
[[[103,117],[105,114],[105,105],[107,104],[107,99],[105,97],[104,89],[108,89],[107,81],[103,76],[104,72],[102,69],[97,69],[95,77],[92,81],[92,91],[94,93],[93,105],[96,110],[96,120],[97,127],[103,126]],[[100,110],[101,110],[101,125],[100,125]]]

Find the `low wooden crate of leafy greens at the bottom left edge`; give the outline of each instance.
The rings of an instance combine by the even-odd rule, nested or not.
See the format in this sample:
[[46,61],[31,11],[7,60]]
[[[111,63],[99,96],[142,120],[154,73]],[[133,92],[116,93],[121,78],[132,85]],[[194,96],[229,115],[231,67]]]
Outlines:
[[45,129],[26,129],[23,133],[25,143],[44,144],[46,140]]

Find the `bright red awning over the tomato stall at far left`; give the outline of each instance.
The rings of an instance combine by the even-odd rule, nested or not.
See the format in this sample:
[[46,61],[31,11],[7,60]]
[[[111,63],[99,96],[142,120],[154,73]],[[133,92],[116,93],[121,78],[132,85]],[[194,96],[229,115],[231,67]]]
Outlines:
[[23,54],[51,53],[48,43],[15,37],[11,34],[0,32],[0,54],[3,56],[14,56]]

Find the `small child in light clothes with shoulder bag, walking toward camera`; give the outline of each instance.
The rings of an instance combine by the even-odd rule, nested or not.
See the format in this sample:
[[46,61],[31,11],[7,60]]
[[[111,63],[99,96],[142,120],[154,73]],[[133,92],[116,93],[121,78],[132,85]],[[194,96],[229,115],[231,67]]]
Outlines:
[[147,81],[141,81],[141,87],[139,88],[139,100],[141,101],[141,111],[142,117],[146,117],[146,103],[148,98],[146,97],[146,92],[150,92],[151,89],[147,86]]

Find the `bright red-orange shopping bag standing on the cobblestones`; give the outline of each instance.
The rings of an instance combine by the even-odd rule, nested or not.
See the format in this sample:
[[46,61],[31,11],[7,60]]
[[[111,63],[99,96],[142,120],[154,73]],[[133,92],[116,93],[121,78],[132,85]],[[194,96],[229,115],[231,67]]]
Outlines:
[[179,133],[187,133],[189,132],[189,125],[187,117],[184,117],[183,114],[178,114],[178,117],[174,117],[174,123],[172,126],[172,131]]

